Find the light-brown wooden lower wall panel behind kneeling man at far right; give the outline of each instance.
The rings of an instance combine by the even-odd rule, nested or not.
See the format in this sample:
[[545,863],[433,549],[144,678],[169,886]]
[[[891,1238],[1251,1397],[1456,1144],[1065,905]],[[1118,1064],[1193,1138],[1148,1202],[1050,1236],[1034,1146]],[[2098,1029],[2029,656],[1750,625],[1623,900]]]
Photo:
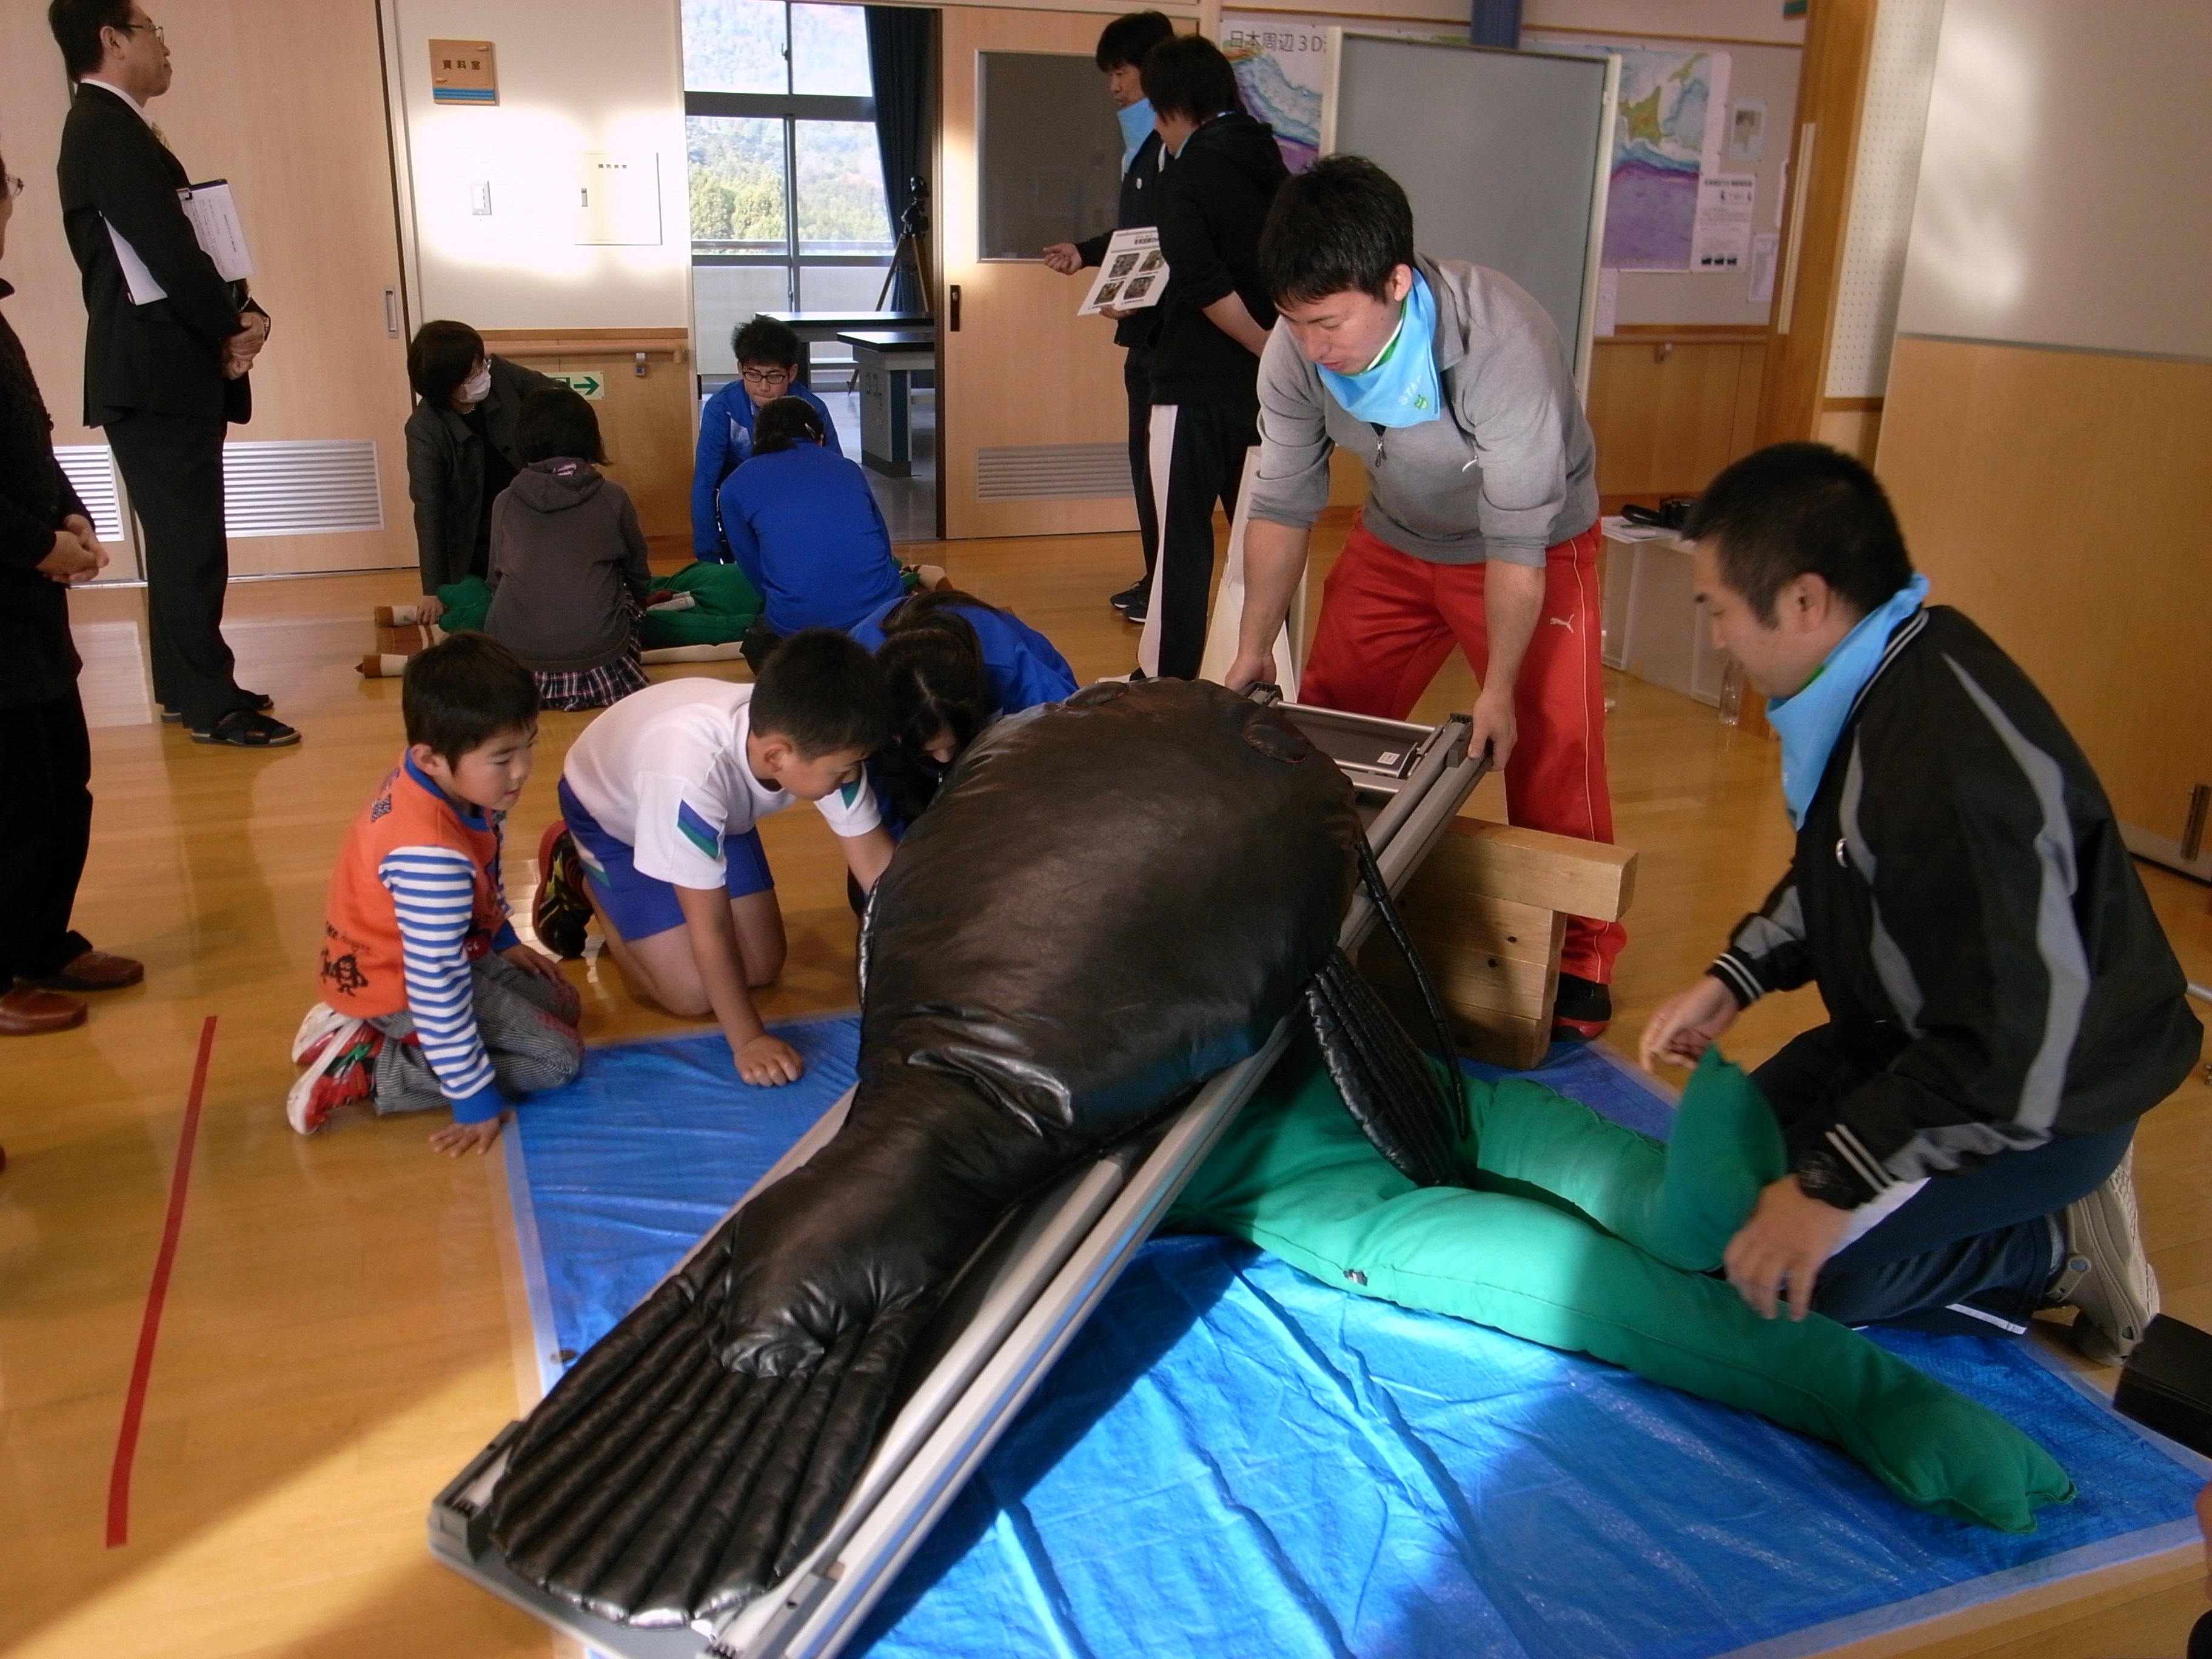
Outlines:
[[1878,471],[1931,599],[2051,697],[2121,823],[2212,783],[2212,363],[1902,336]]

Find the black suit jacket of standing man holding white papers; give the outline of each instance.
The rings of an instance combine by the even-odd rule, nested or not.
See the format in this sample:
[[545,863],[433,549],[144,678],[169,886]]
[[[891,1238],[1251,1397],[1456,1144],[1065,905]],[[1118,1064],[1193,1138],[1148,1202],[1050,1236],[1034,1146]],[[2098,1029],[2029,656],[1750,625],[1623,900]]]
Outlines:
[[[84,276],[84,425],[133,409],[248,420],[246,378],[223,378],[223,341],[259,310],[226,283],[192,237],[177,190],[184,164],[124,100],[77,86],[62,124],[62,230]],[[168,299],[133,305],[108,226],[137,250]]]

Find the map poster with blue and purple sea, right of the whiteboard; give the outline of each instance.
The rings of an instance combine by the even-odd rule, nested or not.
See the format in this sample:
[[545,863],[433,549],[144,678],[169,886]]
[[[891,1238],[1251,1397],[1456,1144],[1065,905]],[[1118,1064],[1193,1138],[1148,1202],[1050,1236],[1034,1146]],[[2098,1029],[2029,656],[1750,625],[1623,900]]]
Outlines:
[[1584,42],[1544,42],[1544,51],[1621,60],[1604,263],[1697,270],[1699,179],[1721,170],[1730,55]]

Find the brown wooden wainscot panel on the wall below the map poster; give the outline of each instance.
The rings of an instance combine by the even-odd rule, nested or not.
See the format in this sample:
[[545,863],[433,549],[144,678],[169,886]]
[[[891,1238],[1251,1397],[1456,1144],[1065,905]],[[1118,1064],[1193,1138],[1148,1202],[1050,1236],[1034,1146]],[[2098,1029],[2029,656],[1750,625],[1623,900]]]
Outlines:
[[1597,493],[1694,495],[1752,447],[1767,343],[1747,330],[1621,330],[1590,361]]

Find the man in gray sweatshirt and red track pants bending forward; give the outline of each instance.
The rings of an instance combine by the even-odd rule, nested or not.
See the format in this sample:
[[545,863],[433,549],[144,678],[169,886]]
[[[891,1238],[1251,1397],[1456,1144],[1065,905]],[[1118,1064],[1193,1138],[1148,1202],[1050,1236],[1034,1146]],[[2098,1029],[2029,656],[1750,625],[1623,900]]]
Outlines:
[[[1566,347],[1482,265],[1413,252],[1405,190],[1365,157],[1290,179],[1259,246],[1283,319],[1259,365],[1261,465],[1232,688],[1276,679],[1329,451],[1367,502],[1323,588],[1298,699],[1405,719],[1453,641],[1482,695],[1471,748],[1513,823],[1613,841],[1599,679],[1597,484]],[[1628,933],[1568,918],[1555,1033],[1595,1037]]]

